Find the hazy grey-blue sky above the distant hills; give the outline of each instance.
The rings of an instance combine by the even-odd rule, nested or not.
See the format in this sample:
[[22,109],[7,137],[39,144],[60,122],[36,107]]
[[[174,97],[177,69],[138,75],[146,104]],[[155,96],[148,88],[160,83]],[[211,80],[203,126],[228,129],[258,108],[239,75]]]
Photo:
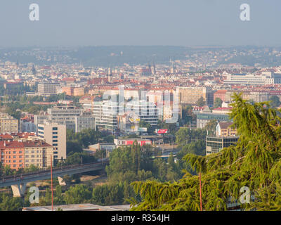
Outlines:
[[280,22],[280,0],[1,0],[0,46],[281,46]]

